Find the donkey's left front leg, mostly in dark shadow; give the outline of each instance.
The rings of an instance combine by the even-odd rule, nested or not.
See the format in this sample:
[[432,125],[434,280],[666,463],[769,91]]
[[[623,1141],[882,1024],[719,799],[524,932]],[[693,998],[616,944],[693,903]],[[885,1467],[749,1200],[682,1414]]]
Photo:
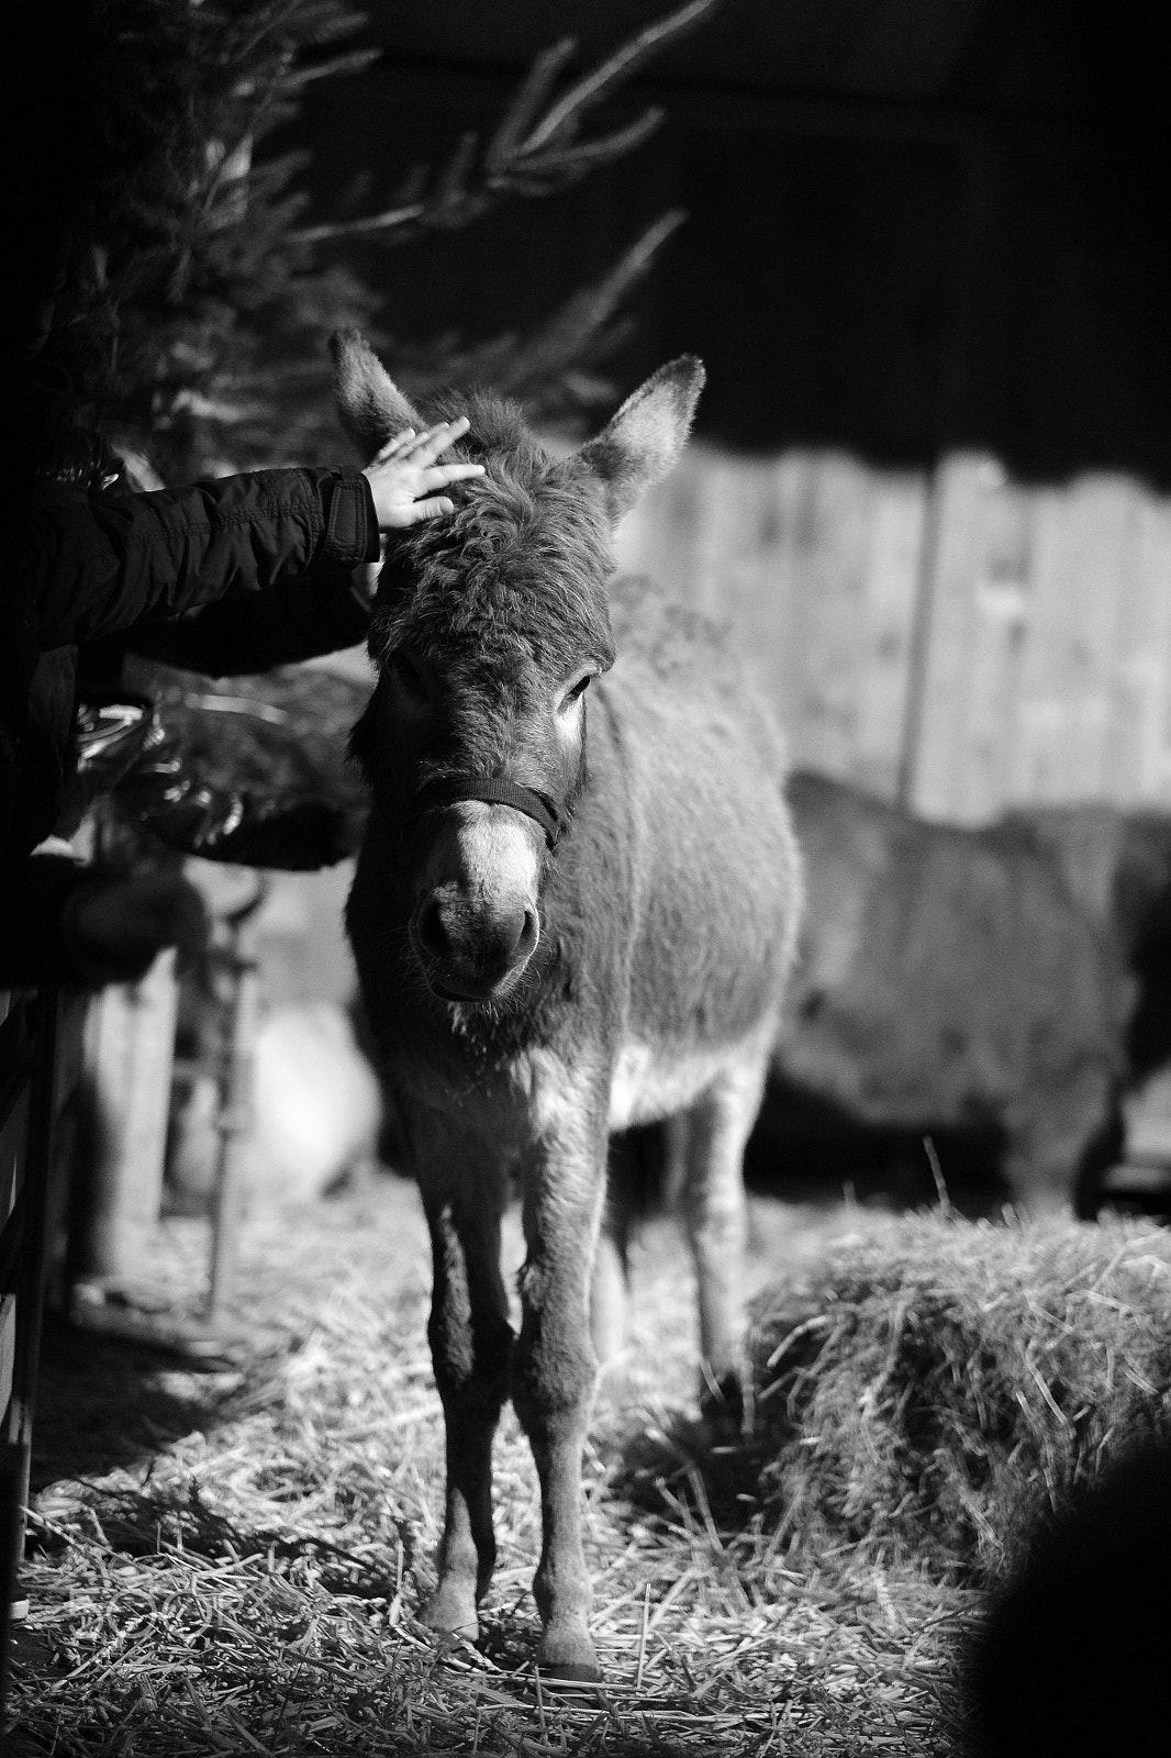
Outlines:
[[492,1436],[508,1396],[512,1327],[499,1271],[506,1180],[487,1151],[447,1143],[443,1166],[418,1167],[434,1287],[431,1361],[447,1433],[447,1508],[438,1586],[420,1619],[433,1630],[480,1633],[476,1605],[496,1565]]

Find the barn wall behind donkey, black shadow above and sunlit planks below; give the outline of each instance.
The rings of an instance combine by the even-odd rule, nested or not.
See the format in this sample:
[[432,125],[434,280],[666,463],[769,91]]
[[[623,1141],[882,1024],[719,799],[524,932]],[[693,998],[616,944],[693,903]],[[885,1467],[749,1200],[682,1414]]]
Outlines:
[[[387,359],[533,329],[684,207],[607,371],[617,399],[695,352],[707,389],[626,561],[731,621],[802,763],[969,821],[1171,803],[1166,26],[972,0],[932,70],[914,4],[851,7],[853,47],[830,11],[728,0],[626,100],[666,105],[631,158],[410,262],[359,250]],[[431,19],[387,21],[345,107],[309,93],[320,216],[499,121],[517,69],[438,16],[433,53],[475,67],[425,62]]]

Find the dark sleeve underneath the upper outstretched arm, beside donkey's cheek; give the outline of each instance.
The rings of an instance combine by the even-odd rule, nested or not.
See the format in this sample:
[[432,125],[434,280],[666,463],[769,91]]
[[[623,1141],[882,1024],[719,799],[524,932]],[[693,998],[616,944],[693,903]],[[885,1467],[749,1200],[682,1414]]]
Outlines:
[[331,568],[280,591],[232,592],[171,622],[139,624],[125,649],[204,677],[236,677],[357,647],[367,631],[369,612],[350,592],[348,573]]

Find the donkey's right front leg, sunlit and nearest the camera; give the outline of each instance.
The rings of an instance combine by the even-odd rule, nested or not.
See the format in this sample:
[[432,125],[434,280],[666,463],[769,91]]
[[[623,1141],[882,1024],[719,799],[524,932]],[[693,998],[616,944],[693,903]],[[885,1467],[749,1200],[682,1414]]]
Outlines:
[[589,1289],[605,1199],[605,1127],[573,1129],[526,1166],[522,1322],[512,1399],[542,1489],[542,1558],[533,1596],[542,1614],[536,1661],[550,1675],[601,1674],[589,1637],[591,1587],[582,1551],[582,1449],[598,1361]]

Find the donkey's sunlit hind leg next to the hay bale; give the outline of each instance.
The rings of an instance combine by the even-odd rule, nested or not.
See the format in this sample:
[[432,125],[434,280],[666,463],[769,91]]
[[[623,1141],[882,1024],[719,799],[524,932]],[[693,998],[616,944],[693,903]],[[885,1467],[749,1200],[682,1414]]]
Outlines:
[[673,1129],[700,1297],[700,1405],[721,1426],[738,1426],[744,1408],[744,1146],[763,1086],[765,1058],[746,1057],[726,1067]]

